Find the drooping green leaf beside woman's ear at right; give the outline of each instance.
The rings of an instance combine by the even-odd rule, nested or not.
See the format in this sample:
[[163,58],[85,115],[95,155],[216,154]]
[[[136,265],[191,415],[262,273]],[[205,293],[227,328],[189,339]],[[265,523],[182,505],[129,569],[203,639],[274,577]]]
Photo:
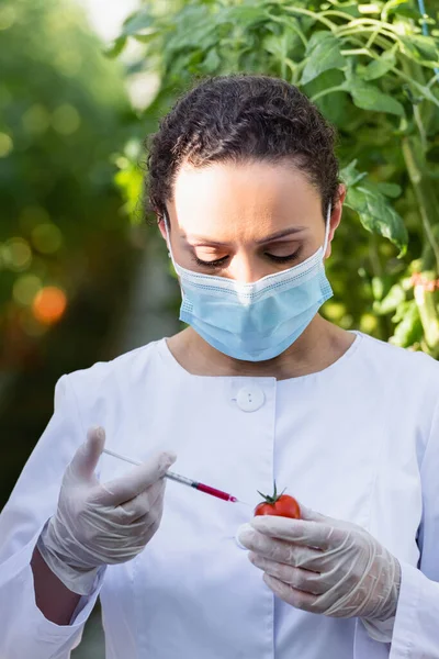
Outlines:
[[408,243],[407,230],[403,219],[387,202],[384,194],[371,190],[367,183],[361,183],[348,188],[345,203],[357,211],[364,228],[391,241],[398,247],[398,256],[404,256]]

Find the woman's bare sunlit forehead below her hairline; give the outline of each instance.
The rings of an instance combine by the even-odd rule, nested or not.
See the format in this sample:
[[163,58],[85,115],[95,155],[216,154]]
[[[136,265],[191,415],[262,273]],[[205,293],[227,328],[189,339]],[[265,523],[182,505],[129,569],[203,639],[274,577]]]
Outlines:
[[189,165],[178,172],[170,203],[188,233],[227,234],[232,228],[263,235],[294,224],[322,223],[318,191],[286,163]]

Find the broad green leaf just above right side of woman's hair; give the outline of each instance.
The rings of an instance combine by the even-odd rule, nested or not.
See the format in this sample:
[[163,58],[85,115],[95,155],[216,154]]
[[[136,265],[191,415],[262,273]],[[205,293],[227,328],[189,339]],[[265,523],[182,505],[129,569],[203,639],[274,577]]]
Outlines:
[[306,85],[323,71],[342,68],[346,64],[340,53],[340,42],[328,31],[314,32],[306,48],[306,64],[302,72],[301,85]]

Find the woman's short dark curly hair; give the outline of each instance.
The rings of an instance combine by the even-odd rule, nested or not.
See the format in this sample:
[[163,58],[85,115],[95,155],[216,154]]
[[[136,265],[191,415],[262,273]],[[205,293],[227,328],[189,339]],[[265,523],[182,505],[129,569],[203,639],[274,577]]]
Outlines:
[[245,74],[207,78],[184,93],[145,141],[149,210],[166,217],[165,201],[172,199],[184,163],[291,160],[320,193],[326,217],[340,182],[336,138],[317,107],[285,80]]

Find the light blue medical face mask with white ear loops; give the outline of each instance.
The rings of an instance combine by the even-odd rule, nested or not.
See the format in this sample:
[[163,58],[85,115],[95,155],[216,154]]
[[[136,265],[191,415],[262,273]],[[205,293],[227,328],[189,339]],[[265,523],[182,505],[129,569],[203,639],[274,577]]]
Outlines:
[[283,353],[333,295],[324,267],[329,217],[330,204],[324,246],[313,256],[251,283],[193,272],[176,264],[166,219],[169,256],[182,291],[180,320],[235,359],[263,361]]

